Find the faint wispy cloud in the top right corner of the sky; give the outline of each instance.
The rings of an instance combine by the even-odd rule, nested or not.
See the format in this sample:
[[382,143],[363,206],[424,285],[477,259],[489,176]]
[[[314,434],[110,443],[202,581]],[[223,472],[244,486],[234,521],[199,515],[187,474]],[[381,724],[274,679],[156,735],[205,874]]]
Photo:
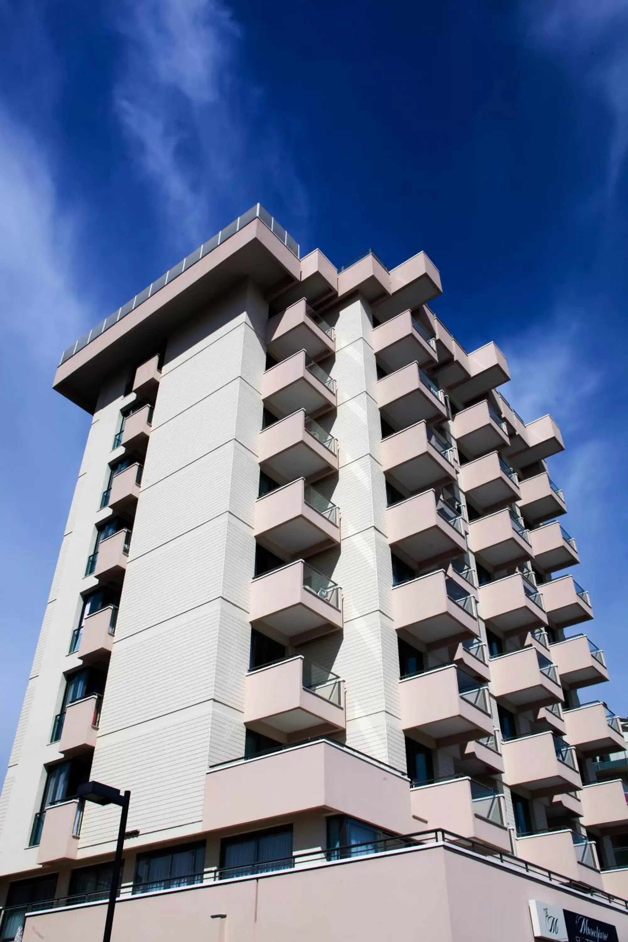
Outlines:
[[530,41],[597,94],[613,128],[607,187],[628,153],[628,4],[625,0],[523,0]]

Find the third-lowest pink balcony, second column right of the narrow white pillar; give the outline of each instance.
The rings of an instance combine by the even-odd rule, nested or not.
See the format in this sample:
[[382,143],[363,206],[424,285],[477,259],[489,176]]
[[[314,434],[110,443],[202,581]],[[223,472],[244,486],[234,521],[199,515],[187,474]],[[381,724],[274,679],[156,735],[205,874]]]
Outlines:
[[563,699],[556,667],[534,647],[490,658],[492,693],[517,709],[545,707]]

